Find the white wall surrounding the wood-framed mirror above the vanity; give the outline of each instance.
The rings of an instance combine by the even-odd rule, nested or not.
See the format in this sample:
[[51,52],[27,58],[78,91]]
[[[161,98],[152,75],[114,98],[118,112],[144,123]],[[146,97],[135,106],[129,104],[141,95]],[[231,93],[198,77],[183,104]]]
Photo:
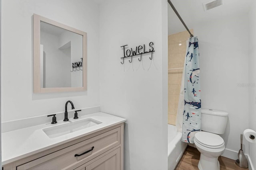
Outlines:
[[[38,14],[88,35],[88,91],[33,94],[32,16]],[[2,2],[2,121],[99,105],[99,8],[91,0]],[[70,106],[68,106],[70,107]]]

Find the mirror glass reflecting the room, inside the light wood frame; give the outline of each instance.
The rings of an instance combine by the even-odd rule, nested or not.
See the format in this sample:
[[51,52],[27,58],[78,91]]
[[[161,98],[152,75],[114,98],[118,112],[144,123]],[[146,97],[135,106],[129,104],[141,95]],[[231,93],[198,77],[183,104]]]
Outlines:
[[72,66],[82,59],[82,44],[82,35],[40,22],[41,88],[83,86],[82,66]]

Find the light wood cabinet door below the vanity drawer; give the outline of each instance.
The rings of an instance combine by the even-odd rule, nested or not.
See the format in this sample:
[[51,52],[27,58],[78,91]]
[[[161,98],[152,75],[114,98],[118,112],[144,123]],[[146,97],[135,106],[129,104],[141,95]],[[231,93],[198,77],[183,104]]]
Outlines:
[[86,166],[85,170],[120,170],[120,148]]

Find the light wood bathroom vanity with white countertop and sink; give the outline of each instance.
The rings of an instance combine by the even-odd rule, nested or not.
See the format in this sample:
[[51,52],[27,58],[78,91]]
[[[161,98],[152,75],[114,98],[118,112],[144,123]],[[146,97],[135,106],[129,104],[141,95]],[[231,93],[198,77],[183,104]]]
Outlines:
[[[88,120],[95,125],[74,130]],[[124,121],[98,112],[2,133],[3,170],[123,170]]]

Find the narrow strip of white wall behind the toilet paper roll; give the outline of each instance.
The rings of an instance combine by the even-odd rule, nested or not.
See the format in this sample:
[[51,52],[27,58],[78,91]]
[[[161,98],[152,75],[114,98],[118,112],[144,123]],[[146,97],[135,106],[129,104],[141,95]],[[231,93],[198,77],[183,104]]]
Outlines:
[[[249,12],[249,82],[256,83],[256,1]],[[249,88],[249,128],[256,131],[256,87]],[[256,143],[249,143],[249,155],[256,168]]]

